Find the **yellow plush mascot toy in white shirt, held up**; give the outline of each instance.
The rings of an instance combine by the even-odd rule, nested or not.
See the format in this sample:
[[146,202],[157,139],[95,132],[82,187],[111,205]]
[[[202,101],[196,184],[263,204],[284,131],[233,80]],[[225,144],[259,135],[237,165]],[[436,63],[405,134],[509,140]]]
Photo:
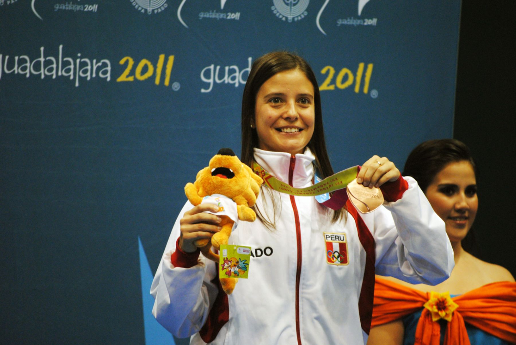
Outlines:
[[[197,173],[194,183],[187,183],[185,194],[193,206],[201,203],[212,203],[219,206],[214,213],[222,221],[222,229],[209,239],[200,239],[194,244],[202,254],[215,262],[219,256],[211,251],[211,247],[220,249],[221,244],[228,244],[233,225],[238,220],[253,222],[256,213],[250,208],[256,202],[260,192],[262,178],[253,173],[251,168],[243,164],[231,149],[220,149],[209,160],[209,166]],[[235,288],[237,278],[220,278],[225,293],[230,294]]]

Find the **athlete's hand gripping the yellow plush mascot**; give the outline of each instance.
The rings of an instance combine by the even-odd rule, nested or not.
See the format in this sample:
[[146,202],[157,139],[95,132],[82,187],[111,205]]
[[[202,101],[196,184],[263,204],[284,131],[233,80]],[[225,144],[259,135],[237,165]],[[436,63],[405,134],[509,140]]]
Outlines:
[[213,234],[220,231],[219,223],[221,218],[204,212],[217,212],[218,210],[219,208],[216,205],[200,204],[185,212],[183,218],[179,221],[181,224],[179,247],[183,252],[195,252],[197,247],[193,244],[194,241],[211,238]]

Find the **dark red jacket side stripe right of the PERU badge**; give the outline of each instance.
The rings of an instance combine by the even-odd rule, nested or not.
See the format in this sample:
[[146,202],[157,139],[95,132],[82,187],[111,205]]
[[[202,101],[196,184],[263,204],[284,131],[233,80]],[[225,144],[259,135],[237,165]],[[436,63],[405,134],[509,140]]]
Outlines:
[[358,312],[362,330],[369,334],[375,293],[375,239],[350,201],[347,202],[347,210],[357,225],[358,238],[365,250],[364,278],[358,300]]

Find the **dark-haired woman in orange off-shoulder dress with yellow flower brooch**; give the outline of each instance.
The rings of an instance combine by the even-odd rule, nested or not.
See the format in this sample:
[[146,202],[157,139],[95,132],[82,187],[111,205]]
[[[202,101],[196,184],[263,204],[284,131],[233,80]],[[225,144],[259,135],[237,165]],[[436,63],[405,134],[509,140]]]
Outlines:
[[516,343],[513,276],[462,247],[478,209],[476,166],[468,147],[454,139],[426,141],[410,153],[402,175],[417,180],[445,222],[455,269],[436,286],[377,276],[367,343]]

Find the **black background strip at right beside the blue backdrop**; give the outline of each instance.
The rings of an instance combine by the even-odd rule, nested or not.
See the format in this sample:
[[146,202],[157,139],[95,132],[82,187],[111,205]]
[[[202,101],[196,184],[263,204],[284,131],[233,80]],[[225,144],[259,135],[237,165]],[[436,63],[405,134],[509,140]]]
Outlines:
[[514,13],[514,1],[462,1],[454,138],[479,168],[476,256],[516,276]]

